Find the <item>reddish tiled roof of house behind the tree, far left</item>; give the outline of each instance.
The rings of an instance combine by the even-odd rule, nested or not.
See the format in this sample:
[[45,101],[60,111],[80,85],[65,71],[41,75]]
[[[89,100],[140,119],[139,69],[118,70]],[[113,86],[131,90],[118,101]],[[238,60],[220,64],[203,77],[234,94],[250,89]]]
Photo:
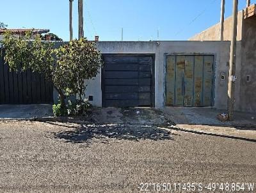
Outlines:
[[49,33],[49,29],[0,29],[0,41],[3,40],[3,35],[6,31],[10,31],[13,35],[24,36],[28,31],[33,32],[33,36],[42,35],[44,33]]

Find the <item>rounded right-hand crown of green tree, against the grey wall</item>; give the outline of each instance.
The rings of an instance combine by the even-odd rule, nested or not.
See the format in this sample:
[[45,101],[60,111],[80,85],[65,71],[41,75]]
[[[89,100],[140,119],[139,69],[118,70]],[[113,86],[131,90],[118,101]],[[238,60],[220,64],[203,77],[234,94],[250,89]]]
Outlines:
[[54,82],[63,84],[68,95],[78,95],[79,101],[84,97],[85,79],[92,79],[102,67],[102,58],[94,42],[86,38],[72,40],[56,50],[58,58],[55,70],[60,77],[54,77]]

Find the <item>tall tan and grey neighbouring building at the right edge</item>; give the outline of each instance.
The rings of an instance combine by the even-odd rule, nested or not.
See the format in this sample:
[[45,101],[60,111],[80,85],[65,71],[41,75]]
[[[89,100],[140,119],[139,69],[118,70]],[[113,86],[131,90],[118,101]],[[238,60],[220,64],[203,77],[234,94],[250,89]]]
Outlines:
[[[224,40],[232,38],[232,17],[224,22]],[[189,40],[220,40],[220,23],[198,33]],[[223,64],[225,65],[225,64]],[[228,65],[228,64],[227,64]],[[256,112],[256,5],[238,13],[236,53],[236,109]],[[228,76],[228,73],[218,74]],[[225,80],[225,85],[227,84]]]

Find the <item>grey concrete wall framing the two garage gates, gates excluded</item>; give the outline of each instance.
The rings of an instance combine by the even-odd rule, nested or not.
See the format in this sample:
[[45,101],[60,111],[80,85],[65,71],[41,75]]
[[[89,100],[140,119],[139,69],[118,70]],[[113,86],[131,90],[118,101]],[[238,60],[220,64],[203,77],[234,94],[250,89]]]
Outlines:
[[[227,75],[230,42],[98,42],[102,54],[155,54],[155,107],[165,105],[166,54],[212,54],[215,57],[214,107],[227,107]],[[221,72],[226,74],[220,81]],[[92,95],[92,104],[102,106],[101,75],[86,81],[86,96]]]

